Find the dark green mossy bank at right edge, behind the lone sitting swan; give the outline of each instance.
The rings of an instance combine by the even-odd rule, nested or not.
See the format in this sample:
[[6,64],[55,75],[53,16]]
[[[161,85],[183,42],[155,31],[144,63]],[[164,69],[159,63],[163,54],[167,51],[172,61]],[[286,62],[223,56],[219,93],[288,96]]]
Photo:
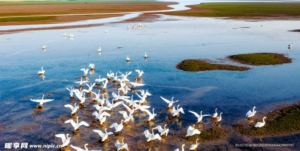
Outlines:
[[[252,123],[237,123],[233,125],[235,131],[250,137],[266,137],[287,135],[300,132],[300,102],[286,107],[278,107],[265,115],[265,126],[253,127],[262,118],[253,119]],[[248,127],[248,128],[247,128]],[[250,127],[250,128],[249,128]]]

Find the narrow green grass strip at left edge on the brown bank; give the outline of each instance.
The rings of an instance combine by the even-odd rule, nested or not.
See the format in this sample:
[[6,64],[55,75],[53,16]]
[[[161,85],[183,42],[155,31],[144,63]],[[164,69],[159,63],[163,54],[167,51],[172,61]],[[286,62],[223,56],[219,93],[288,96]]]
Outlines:
[[0,22],[26,22],[26,21],[41,21],[41,20],[55,20],[55,16],[34,16],[34,17],[6,17],[0,18]]

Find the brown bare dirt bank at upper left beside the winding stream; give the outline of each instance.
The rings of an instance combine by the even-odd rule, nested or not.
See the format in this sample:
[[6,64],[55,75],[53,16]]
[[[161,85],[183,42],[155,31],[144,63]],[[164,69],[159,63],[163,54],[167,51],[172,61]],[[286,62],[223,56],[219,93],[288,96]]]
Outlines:
[[[85,4],[85,2],[87,4]],[[6,16],[40,16],[40,15],[64,15],[64,14],[87,14],[87,13],[123,13],[152,10],[171,9],[167,5],[177,4],[174,2],[157,1],[76,1],[76,2],[26,2],[26,3],[0,3],[0,17]],[[33,25],[52,24],[56,22],[74,22],[89,19],[101,19],[123,14],[107,15],[76,15],[55,16],[54,19],[40,21],[1,22],[0,25]],[[20,20],[22,20],[20,18]]]

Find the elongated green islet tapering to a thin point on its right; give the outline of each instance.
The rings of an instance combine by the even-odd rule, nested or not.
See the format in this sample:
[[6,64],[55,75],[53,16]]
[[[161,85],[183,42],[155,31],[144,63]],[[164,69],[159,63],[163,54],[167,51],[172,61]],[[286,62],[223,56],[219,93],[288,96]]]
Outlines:
[[201,59],[183,60],[176,66],[183,71],[211,71],[211,70],[229,70],[229,71],[247,71],[251,68],[239,67],[235,65],[214,64]]

